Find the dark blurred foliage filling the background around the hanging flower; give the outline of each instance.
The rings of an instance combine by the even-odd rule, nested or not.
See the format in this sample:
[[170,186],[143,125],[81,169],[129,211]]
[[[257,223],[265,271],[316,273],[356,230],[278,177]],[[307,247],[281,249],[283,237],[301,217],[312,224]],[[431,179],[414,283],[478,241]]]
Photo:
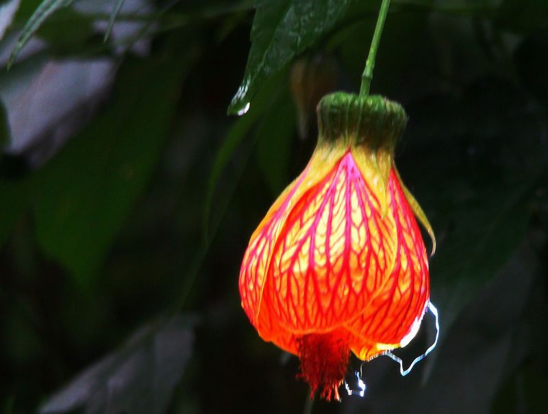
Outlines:
[[[1,412],[303,410],[240,259],[319,96],[358,89],[378,3],[0,1]],[[393,0],[372,92],[410,116],[442,337],[314,412],[545,412],[547,64],[546,1]]]

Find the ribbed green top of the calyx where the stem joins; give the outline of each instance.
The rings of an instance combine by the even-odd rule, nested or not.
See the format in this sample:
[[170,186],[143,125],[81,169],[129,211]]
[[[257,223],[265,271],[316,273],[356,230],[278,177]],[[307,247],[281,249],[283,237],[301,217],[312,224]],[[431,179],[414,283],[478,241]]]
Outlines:
[[407,123],[403,107],[379,95],[335,92],[321,99],[316,112],[319,143],[342,142],[390,155]]

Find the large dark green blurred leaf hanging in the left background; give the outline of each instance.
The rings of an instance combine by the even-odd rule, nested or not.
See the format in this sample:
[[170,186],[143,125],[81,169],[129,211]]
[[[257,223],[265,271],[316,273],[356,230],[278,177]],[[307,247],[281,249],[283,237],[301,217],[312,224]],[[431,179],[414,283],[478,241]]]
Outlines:
[[184,55],[123,66],[118,98],[34,179],[38,242],[82,283],[147,184],[189,63]]

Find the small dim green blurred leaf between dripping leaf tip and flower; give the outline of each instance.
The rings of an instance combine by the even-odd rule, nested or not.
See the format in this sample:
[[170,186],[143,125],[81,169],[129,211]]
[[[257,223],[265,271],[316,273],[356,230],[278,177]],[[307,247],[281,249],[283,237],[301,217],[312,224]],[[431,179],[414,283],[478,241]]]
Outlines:
[[296,131],[295,107],[288,88],[279,94],[257,129],[257,161],[277,196],[289,179],[291,143]]

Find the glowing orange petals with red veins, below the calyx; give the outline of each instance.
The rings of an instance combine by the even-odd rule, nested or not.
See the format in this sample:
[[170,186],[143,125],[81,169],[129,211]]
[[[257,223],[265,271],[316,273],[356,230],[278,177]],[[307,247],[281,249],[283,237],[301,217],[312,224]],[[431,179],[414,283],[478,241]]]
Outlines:
[[[317,359],[303,344],[346,344],[338,352],[349,349],[362,360],[401,346],[429,299],[424,242],[395,169],[383,216],[352,151],[321,177],[312,158],[253,233],[240,270],[242,307],[253,326],[299,355],[301,367]],[[303,376],[320,375],[309,374]],[[329,397],[337,384],[327,385]]]

